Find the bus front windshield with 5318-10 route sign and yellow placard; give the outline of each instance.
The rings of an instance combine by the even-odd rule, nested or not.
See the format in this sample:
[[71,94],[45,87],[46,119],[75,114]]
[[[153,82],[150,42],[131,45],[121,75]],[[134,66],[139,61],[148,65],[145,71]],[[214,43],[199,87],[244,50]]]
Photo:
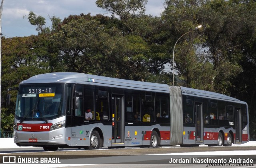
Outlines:
[[17,95],[15,118],[48,122],[65,115],[63,103],[63,84],[24,84],[20,85]]

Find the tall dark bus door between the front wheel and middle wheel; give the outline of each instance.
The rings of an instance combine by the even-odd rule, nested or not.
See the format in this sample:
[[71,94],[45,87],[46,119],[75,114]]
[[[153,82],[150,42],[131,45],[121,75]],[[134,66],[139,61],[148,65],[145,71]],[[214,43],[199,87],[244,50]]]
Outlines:
[[124,144],[124,96],[112,95],[112,144]]

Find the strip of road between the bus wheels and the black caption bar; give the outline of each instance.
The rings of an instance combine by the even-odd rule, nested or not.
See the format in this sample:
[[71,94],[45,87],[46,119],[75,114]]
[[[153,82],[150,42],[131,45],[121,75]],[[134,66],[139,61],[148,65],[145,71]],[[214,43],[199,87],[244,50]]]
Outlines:
[[[107,149],[100,148],[98,150],[84,150],[74,148],[59,148],[57,151],[45,152],[43,148],[3,148],[0,149],[0,155],[7,153],[20,153],[20,155],[76,155],[83,156],[108,156],[108,155],[145,155],[145,154],[163,154],[177,152],[206,152],[206,151],[236,151],[236,150],[256,150],[256,147],[158,147],[158,148],[124,148],[124,149]],[[40,153],[37,153],[40,152]],[[10,154],[10,155],[12,155]],[[8,154],[7,154],[8,155]]]

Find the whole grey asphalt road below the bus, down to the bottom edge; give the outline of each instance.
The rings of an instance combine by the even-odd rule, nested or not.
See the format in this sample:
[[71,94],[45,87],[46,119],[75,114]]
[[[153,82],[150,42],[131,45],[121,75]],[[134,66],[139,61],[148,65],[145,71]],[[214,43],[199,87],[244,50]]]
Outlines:
[[[255,167],[255,165],[239,165],[239,164],[224,164],[222,165],[208,165],[207,159],[250,159],[256,163],[256,154],[251,156],[239,156],[237,151],[256,150],[256,147],[159,147],[159,148],[124,148],[124,149],[106,149],[99,150],[84,150],[84,149],[59,149],[54,152],[44,152],[42,148],[16,148],[16,149],[1,149],[0,155],[3,156],[16,156],[24,158],[58,158],[61,164],[95,164],[86,166],[75,166],[75,168],[90,167],[100,168],[167,168],[167,167]],[[187,152],[206,152],[206,151],[230,151],[236,156],[189,156]],[[186,153],[186,155],[150,155],[148,154],[166,154],[166,153]],[[147,155],[147,156],[145,156]],[[170,161],[181,159],[187,161],[182,164],[170,164]],[[206,163],[195,163],[194,158],[197,160],[206,160]],[[0,157],[2,163],[2,157]],[[114,163],[114,164],[113,164]],[[193,164],[191,164],[193,163]],[[54,167],[54,165],[52,166]],[[73,168],[73,167],[72,167]]]

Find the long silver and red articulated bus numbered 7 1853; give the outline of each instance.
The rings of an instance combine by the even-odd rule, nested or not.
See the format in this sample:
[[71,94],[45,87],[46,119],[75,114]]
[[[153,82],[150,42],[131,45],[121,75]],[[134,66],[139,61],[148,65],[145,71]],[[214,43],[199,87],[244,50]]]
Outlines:
[[249,141],[247,104],[214,92],[73,72],[36,75],[11,90],[18,91],[18,146],[50,151]]

